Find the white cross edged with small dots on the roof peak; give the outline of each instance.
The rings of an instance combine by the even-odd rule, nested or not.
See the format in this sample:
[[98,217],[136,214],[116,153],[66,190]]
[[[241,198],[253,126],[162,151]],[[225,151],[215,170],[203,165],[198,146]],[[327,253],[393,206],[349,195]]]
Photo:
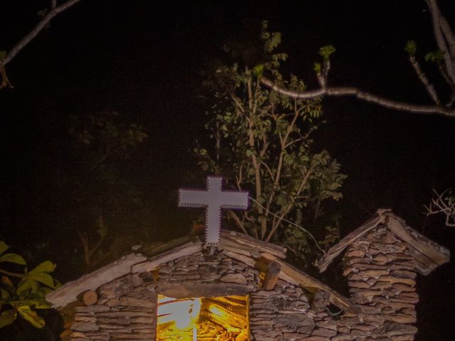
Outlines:
[[208,176],[207,190],[179,189],[179,207],[205,207],[205,244],[218,245],[220,241],[221,209],[248,208],[248,192],[222,190],[223,178]]

